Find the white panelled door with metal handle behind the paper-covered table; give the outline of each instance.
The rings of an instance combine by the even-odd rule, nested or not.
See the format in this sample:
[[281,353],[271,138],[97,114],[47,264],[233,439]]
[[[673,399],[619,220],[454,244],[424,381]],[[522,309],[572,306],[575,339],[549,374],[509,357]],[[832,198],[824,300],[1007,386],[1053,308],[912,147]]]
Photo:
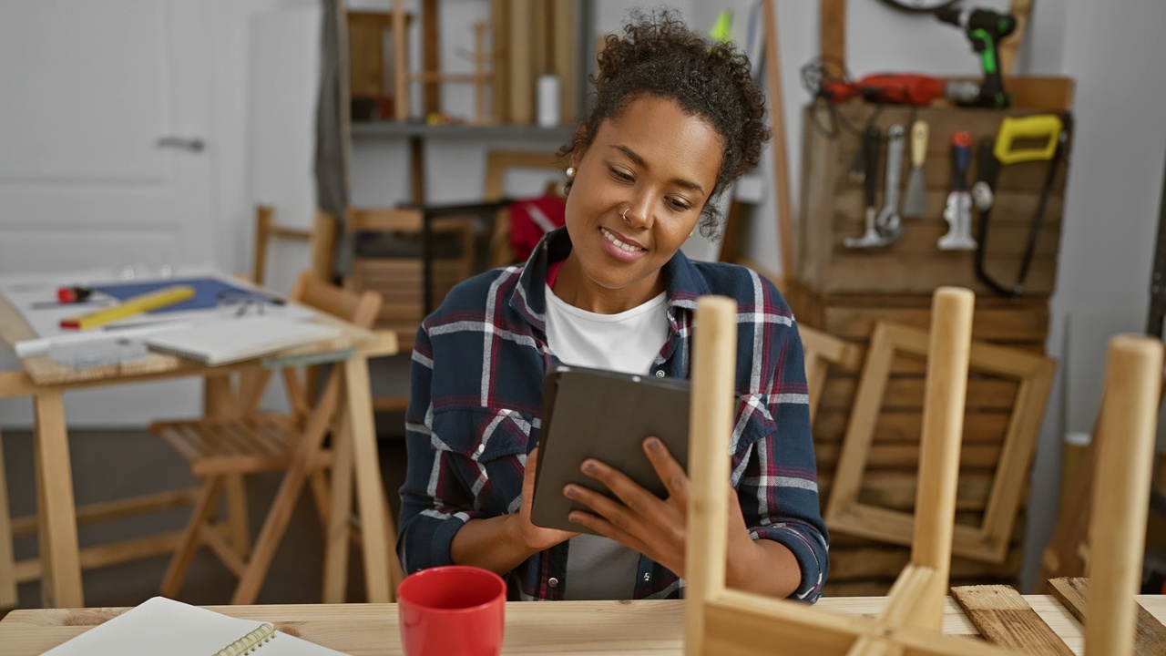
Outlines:
[[[0,2],[0,275],[216,264],[209,6]],[[197,405],[189,383],[66,397],[82,425]],[[0,425],[27,417],[0,404]]]

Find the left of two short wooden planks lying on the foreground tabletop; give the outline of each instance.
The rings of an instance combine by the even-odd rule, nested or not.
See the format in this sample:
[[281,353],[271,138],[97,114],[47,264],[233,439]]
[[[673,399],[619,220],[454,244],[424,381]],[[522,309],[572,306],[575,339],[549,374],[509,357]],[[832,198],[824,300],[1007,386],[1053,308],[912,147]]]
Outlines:
[[1009,586],[953,587],[951,596],[992,644],[1023,649],[1033,656],[1073,656],[1056,631]]

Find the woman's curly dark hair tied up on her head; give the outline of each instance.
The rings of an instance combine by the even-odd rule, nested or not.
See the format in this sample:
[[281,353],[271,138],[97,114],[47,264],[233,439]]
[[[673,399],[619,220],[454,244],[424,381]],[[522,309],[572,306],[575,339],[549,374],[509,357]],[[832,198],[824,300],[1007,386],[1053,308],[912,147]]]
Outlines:
[[620,116],[641,96],[673,100],[686,113],[708,121],[724,146],[717,182],[701,210],[701,233],[714,236],[721,224],[716,200],[729,183],[757,166],[761,145],[770,139],[765,96],[750,75],[749,57],[733,43],[711,42],[694,33],[674,9],[633,9],[623,36],[606,37],[591,83],[591,113],[559,156],[566,159],[576,148],[590,146],[603,121]]

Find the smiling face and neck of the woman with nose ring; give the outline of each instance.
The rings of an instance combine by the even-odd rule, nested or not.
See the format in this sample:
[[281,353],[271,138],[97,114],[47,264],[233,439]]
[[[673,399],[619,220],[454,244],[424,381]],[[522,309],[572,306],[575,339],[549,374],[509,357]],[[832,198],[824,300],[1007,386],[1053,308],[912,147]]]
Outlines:
[[574,250],[555,294],[611,314],[663,291],[660,270],[696,226],[722,152],[711,125],[655,96],[600,124],[591,145],[571,155],[567,230]]

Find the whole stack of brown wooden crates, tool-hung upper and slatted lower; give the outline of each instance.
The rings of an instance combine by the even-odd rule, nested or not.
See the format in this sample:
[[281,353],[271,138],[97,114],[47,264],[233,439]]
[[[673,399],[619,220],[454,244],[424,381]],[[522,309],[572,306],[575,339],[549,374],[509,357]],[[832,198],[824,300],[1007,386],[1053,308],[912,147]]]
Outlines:
[[[1072,89],[1070,82],[1065,81],[1065,85]],[[1066,91],[1062,97],[1070,95]],[[1063,110],[1065,105],[1056,106],[1056,103],[1041,109],[1009,110],[888,106],[880,111],[866,104],[810,107],[803,124],[796,254],[792,278],[787,279],[782,289],[799,323],[866,349],[879,322],[926,329],[930,293],[936,287],[954,285],[976,292],[975,341],[1016,348],[1018,353],[1044,354],[1048,333],[1048,296],[1056,278],[1068,153],[1049,194],[1024,296],[1006,299],[995,295],[977,280],[971,251],[940,251],[936,240],[948,230],[942,214],[951,184],[951,133],[965,130],[975,141],[993,135],[1004,116]],[[864,202],[862,184],[854,182],[849,174],[859,153],[858,133],[872,117],[873,124],[884,132],[893,124],[909,127],[916,118],[930,124],[932,137],[925,166],[927,211],[925,218],[902,219],[904,233],[898,243],[873,251],[850,250],[842,245],[842,240],[863,233]],[[842,127],[843,123],[856,130],[851,132]],[[821,130],[829,126],[836,126],[837,132],[833,137]],[[885,168],[884,162],[885,158],[880,156],[880,170]],[[907,179],[908,167],[909,161],[905,161],[900,180]],[[1017,277],[1047,170],[1046,161],[1016,163],[1000,169],[985,251],[985,267],[997,280],[1011,284]],[[976,180],[976,175],[972,162],[970,180]],[[881,177],[878,188],[881,207]],[[978,212],[974,214],[978,222]],[[1009,474],[1016,480],[1007,484],[1019,486],[1020,505],[1006,523],[1000,523],[999,507],[990,508],[990,500],[1004,459],[1016,455],[1006,448],[1010,425],[1014,417],[1033,412],[1033,407],[1017,412],[1018,399],[1027,398],[1031,406],[1032,390],[1014,376],[977,372],[975,365],[972,369],[968,385],[956,522],[969,526],[1007,525],[1011,539],[1004,536],[1007,544],[995,545],[990,550],[985,547],[984,553],[976,553],[972,558],[954,557],[951,584],[1014,585],[1021,561],[1031,452],[1020,454],[1025,458],[1024,470],[1019,475],[1014,472]],[[861,481],[844,483],[857,486],[857,501],[864,505],[902,514],[912,511],[923,371],[925,361],[918,356],[897,354],[891,361]],[[831,369],[814,421],[823,509],[833,491],[833,479],[843,453],[862,372],[862,367]],[[1040,376],[1045,375],[1052,374],[1047,371]],[[1033,439],[1039,431],[1045,398],[1040,397],[1037,402],[1037,424],[1027,428],[1033,432]],[[1031,417],[1025,420],[1031,421]],[[992,517],[985,515],[988,510],[992,510]],[[830,575],[826,591],[830,595],[886,594],[894,577],[909,559],[906,546],[871,538],[863,531],[854,531],[851,525],[831,526],[830,537]],[[906,537],[909,538],[909,533]],[[988,551],[992,554],[989,556]]]

